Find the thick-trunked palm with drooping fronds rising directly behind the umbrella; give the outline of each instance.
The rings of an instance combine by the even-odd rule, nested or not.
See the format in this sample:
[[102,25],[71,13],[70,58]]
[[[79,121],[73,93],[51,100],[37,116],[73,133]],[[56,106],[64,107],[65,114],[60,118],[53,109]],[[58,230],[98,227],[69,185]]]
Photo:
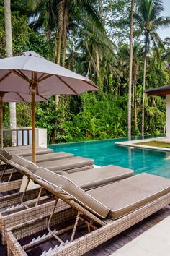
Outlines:
[[[86,19],[87,16],[94,22],[94,25],[104,30],[102,20],[97,14],[95,4],[97,0],[28,0],[30,7],[35,10],[37,14],[37,20],[34,22],[37,27],[45,27],[48,30],[48,34],[56,31],[56,45],[57,58],[55,62],[61,64],[61,51],[63,46],[63,65],[66,59],[66,40],[69,28],[73,29],[73,20],[80,21],[82,18]],[[50,7],[50,9],[49,9]],[[79,15],[77,15],[77,9]],[[59,96],[55,96],[55,103],[58,105]]]

